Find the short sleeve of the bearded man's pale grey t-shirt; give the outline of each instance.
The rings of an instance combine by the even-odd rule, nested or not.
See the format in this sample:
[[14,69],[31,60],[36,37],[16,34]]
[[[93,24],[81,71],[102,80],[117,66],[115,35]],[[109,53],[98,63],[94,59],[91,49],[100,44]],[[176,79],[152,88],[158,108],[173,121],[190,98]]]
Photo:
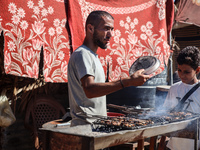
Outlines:
[[87,52],[80,52],[76,57],[75,67],[78,72],[79,79],[85,75],[94,76],[93,61]]

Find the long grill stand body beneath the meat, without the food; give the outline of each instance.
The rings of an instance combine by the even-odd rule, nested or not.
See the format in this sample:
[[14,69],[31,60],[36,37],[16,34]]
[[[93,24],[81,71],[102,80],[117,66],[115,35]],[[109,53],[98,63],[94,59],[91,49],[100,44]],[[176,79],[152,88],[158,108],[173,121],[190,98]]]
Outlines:
[[155,137],[158,135],[164,135],[163,137],[165,135],[176,137],[180,135],[178,137],[195,139],[195,150],[197,150],[198,122],[199,118],[193,118],[164,125],[136,130],[121,130],[112,133],[93,132],[90,125],[55,127],[55,122],[50,122],[40,130],[43,133],[44,150],[96,150],[133,141],[138,141],[137,149],[142,150],[144,148],[144,139],[146,138],[151,138],[150,147],[154,149]]

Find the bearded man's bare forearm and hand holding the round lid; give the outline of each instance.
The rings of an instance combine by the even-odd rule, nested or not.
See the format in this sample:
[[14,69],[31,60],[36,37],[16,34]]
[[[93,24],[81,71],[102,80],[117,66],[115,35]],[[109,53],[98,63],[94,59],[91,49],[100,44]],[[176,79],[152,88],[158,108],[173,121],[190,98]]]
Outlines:
[[[135,72],[130,77],[122,78],[121,82],[123,86],[140,86],[144,84],[144,82],[146,82],[150,78],[150,76],[142,74],[143,71],[144,69],[141,69]],[[104,96],[120,90],[123,88],[121,82],[120,80],[118,80],[106,83],[95,83],[94,76],[91,75],[86,75],[81,78],[83,90],[88,98]]]

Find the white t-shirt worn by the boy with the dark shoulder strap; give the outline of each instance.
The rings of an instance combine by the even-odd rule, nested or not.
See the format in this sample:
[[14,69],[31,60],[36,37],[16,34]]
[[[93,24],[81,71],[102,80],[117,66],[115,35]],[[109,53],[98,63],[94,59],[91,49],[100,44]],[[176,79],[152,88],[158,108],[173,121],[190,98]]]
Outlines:
[[[164,102],[164,107],[167,109],[174,108],[179,100],[181,100],[185,94],[196,84],[190,85],[179,81],[171,86],[168,95]],[[187,110],[194,113],[200,113],[200,88],[196,89],[188,97],[184,103],[183,110]],[[200,141],[198,141],[198,144]],[[171,150],[194,150],[194,140],[187,138],[170,138],[167,147]],[[200,148],[200,145],[199,147]]]

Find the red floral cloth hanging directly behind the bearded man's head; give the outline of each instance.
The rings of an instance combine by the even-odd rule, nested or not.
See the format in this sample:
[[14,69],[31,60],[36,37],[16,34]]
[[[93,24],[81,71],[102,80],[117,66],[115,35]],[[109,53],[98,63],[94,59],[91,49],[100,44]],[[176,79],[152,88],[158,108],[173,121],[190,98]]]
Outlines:
[[172,0],[66,0],[65,5],[73,50],[83,42],[85,21],[91,11],[105,10],[115,18],[109,47],[97,51],[105,72],[109,63],[110,81],[129,76],[132,63],[144,55],[161,61],[155,74],[164,70],[170,54],[167,38],[173,22]]

